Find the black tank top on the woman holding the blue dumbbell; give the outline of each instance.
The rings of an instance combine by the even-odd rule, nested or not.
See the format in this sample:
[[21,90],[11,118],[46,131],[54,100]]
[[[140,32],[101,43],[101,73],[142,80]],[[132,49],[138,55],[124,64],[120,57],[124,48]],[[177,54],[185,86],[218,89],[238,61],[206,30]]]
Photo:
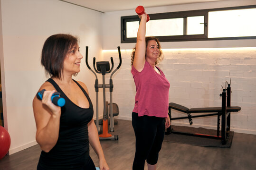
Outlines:
[[87,124],[93,118],[92,102],[83,87],[75,80],[89,101],[88,109],[71,102],[53,79],[49,78],[47,81],[55,87],[66,103],[61,107],[57,144],[50,152],[41,152],[38,170],[80,170],[89,158]]

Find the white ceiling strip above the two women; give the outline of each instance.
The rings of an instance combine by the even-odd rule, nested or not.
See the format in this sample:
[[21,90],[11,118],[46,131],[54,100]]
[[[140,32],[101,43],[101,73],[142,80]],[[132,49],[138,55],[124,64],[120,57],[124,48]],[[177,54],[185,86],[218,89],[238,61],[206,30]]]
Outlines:
[[167,5],[188,4],[220,0],[61,0],[100,12],[135,9],[142,5],[145,8]]

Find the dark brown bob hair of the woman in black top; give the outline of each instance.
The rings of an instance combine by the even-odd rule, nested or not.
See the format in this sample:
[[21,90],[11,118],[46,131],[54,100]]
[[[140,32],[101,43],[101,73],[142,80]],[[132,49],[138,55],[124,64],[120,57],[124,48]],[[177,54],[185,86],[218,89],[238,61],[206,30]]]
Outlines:
[[47,38],[41,56],[41,64],[45,68],[46,75],[61,79],[67,52],[78,41],[78,37],[70,34],[54,34]]

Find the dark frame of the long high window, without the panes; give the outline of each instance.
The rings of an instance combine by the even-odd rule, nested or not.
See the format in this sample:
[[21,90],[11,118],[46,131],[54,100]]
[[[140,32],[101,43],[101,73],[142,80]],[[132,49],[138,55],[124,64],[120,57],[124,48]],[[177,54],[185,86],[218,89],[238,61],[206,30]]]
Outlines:
[[[240,7],[227,7],[227,8],[200,9],[200,10],[178,11],[178,12],[166,12],[166,13],[149,14],[149,16],[150,16],[151,20],[204,16],[204,34],[155,36],[161,42],[256,39],[256,36],[208,38],[208,13],[209,12],[232,10],[232,9],[247,9],[247,8],[256,8],[256,5],[240,6]],[[136,42],[136,37],[135,38],[127,38],[125,35],[126,22],[131,22],[131,21],[139,21],[140,22],[140,18],[137,15],[121,17],[121,43]],[[187,29],[186,22],[187,22],[187,20],[184,19],[183,32],[186,32],[186,29]]]

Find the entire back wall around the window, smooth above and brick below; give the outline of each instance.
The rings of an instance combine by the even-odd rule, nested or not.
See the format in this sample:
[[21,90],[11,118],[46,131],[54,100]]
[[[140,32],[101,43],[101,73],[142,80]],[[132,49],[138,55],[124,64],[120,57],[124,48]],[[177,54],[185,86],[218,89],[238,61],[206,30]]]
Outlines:
[[[145,10],[150,14],[255,4],[255,0],[224,0]],[[104,58],[114,57],[115,63],[118,63],[118,54],[113,49],[116,46],[123,49],[121,69],[113,77],[113,102],[119,106],[119,119],[131,120],[136,90],[130,64],[135,43],[120,43],[120,17],[129,15],[135,15],[134,10],[104,14],[103,46]],[[161,42],[161,46],[169,49],[163,50],[165,59],[160,65],[171,83],[169,102],[189,108],[221,106],[221,85],[225,86],[231,78],[231,105],[242,108],[238,113],[232,113],[231,130],[256,134],[256,40]],[[173,110],[172,116],[185,115]],[[217,128],[217,117],[195,118],[193,122],[193,127]],[[189,126],[189,121],[175,120],[172,124]]]

